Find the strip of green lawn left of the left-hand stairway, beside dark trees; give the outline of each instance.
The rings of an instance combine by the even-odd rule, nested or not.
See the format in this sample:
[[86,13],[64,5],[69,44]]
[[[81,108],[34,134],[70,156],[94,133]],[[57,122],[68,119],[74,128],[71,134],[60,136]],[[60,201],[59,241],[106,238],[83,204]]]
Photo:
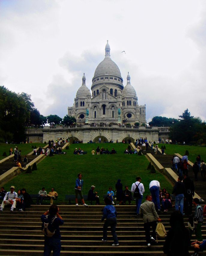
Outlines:
[[6,156],[2,156],[4,152],[6,152],[7,156],[9,156],[9,150],[12,147],[13,152],[14,148],[17,147],[19,150],[22,151],[22,156],[28,154],[29,152],[33,151],[33,146],[39,146],[44,147],[46,144],[43,143],[29,143],[29,144],[6,144],[6,143],[0,143],[0,160],[4,159]]

